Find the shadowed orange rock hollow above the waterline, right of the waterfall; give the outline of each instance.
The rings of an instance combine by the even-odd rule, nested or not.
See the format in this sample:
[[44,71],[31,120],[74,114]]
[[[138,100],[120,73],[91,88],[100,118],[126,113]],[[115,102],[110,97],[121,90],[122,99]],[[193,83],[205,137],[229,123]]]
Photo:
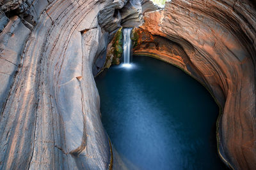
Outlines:
[[173,64],[187,73],[196,76],[200,80],[199,73],[192,66],[183,48],[168,38],[151,34],[150,32],[136,28],[132,30],[134,55],[148,55],[164,62]]

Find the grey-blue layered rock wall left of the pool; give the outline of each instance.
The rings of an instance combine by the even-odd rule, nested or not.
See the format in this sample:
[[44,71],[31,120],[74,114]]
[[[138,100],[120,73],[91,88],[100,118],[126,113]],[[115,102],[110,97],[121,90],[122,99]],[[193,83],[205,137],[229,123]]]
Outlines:
[[112,166],[93,73],[118,29],[98,22],[113,4],[125,1],[1,1],[0,169]]

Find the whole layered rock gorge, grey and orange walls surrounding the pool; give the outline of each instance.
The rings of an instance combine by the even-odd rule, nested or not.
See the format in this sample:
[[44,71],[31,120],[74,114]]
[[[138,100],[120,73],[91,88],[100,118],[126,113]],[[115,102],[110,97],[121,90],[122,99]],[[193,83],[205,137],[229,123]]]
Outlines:
[[256,168],[255,1],[0,3],[0,169],[120,169],[93,76],[121,26],[136,27],[134,54],[205,85],[220,106],[221,159]]

